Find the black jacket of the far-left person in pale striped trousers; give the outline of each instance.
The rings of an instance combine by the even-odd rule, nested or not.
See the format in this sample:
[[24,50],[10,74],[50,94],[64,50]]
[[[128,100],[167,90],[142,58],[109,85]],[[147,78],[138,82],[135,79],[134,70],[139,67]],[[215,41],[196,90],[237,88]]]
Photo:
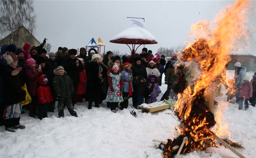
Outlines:
[[[15,70],[7,66],[10,71]],[[26,91],[21,89],[19,76],[3,76],[3,104],[13,105],[25,100]],[[2,116],[3,117],[3,116]]]

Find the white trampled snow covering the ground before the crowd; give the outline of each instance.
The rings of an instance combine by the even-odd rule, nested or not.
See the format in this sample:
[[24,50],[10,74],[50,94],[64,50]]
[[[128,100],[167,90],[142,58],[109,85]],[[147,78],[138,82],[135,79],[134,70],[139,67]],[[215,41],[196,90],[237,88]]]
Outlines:
[[[252,79],[254,72],[247,72]],[[227,79],[232,78],[234,71],[227,71]],[[163,76],[164,77],[164,76]],[[164,79],[163,79],[164,82]],[[162,93],[167,86],[162,84]],[[238,104],[226,102],[226,90],[223,96],[217,97],[219,107],[223,109],[222,121],[228,125],[230,138],[243,145],[236,149],[246,158],[256,155],[256,107],[249,105],[248,110],[238,110]],[[128,109],[113,113],[106,106],[87,108],[87,102],[75,105],[78,117],[69,115],[64,110],[64,118],[58,118],[56,112],[49,112],[48,118],[39,120],[29,117],[28,110],[21,115],[20,123],[26,125],[24,130],[11,133],[0,127],[1,158],[162,158],[162,151],[157,149],[160,142],[176,138],[179,133],[175,127],[179,122],[169,109],[155,113],[143,113],[134,110],[129,99]],[[158,140],[158,141],[155,141]],[[222,158],[229,155],[238,158],[229,149],[207,148],[205,151],[194,151],[180,158]]]

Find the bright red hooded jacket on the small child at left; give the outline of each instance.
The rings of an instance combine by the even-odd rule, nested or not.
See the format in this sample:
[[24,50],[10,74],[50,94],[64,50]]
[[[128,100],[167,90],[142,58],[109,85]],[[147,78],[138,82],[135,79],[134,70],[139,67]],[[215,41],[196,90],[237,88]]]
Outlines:
[[44,82],[45,77],[47,77],[45,74],[42,74],[38,77],[39,86],[36,90],[38,103],[41,104],[45,104],[46,102],[50,103],[54,101],[50,87],[46,82]]

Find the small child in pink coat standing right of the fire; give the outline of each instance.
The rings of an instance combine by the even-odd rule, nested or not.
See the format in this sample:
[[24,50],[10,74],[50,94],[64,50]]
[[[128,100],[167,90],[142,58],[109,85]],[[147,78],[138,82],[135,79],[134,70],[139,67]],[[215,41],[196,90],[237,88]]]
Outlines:
[[243,82],[240,84],[239,98],[238,98],[238,110],[243,108],[243,99],[244,99],[244,110],[248,109],[248,100],[252,97],[253,87],[251,82],[249,82],[249,77],[244,76]]

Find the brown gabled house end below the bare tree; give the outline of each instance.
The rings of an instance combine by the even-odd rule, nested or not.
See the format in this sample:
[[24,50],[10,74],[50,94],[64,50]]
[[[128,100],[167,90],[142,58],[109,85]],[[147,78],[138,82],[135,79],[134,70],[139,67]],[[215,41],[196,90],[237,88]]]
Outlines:
[[24,26],[14,31],[13,35],[13,42],[11,41],[12,35],[10,34],[0,41],[0,47],[4,44],[15,44],[17,48],[23,48],[26,42],[31,46],[40,46],[41,44]]

